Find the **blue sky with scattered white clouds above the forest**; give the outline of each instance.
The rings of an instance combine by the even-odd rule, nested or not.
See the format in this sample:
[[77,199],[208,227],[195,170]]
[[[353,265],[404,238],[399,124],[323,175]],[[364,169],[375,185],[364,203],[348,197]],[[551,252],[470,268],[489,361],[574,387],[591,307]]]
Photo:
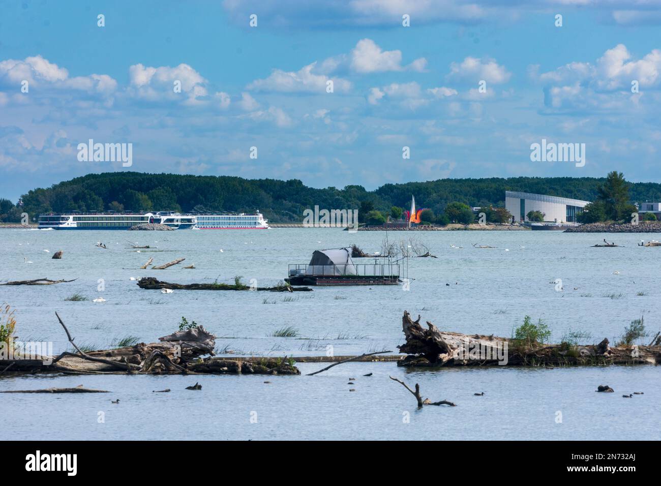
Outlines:
[[[661,182],[660,26],[661,0],[0,0],[0,197],[127,170]],[[78,161],[90,138],[132,167]],[[543,138],[586,165],[532,162]]]

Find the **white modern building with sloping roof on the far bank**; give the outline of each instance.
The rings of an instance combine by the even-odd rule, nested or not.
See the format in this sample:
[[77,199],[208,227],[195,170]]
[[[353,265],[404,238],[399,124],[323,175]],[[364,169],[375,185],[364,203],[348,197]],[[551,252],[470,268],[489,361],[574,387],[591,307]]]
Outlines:
[[575,223],[576,216],[590,201],[579,199],[545,196],[529,192],[505,191],[505,208],[514,216],[515,221],[528,221],[527,214],[539,211],[544,215],[545,222]]

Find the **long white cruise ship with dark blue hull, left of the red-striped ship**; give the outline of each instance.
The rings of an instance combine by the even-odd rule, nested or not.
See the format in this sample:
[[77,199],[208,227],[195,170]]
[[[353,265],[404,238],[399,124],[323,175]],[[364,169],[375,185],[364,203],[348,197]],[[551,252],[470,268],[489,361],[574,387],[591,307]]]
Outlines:
[[136,224],[160,223],[175,229],[191,229],[195,216],[176,212],[40,214],[38,229],[129,229]]

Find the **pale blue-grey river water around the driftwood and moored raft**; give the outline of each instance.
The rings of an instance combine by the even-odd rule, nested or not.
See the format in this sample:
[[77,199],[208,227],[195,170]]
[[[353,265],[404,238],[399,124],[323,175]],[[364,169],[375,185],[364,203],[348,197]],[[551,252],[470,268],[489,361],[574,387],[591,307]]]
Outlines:
[[[20,339],[52,341],[55,353],[69,346],[55,311],[76,343],[89,348],[107,348],[128,336],[157,341],[175,331],[184,316],[217,335],[217,349],[228,356],[322,355],[329,346],[336,355],[397,352],[405,310],[440,329],[505,337],[525,315],[533,321],[541,317],[553,342],[582,331],[591,335],[584,339],[588,343],[603,337],[612,343],[641,316],[649,333],[661,327],[661,248],[637,246],[658,235],[411,234],[438,259],[409,260],[408,292],[401,286],[372,286],[295,294],[161,294],[139,289],[130,278],[231,283],[242,276],[245,283],[255,279],[258,286],[270,286],[286,277],[288,264],[307,263],[315,249],[356,243],[364,251],[379,251],[385,233],[0,229],[0,280],[77,279],[53,286],[0,286],[0,302],[16,309]],[[393,241],[405,233],[391,231],[388,237]],[[590,247],[603,237],[623,247]],[[138,252],[127,248],[128,240],[157,248]],[[97,241],[107,249],[95,247]],[[477,249],[473,243],[495,248]],[[60,249],[63,259],[52,260]],[[154,264],[186,261],[166,270],[137,270],[149,257]],[[191,263],[196,268],[183,268]],[[557,279],[563,290],[557,290]],[[65,301],[76,292],[90,300]],[[105,302],[92,301],[99,297]],[[272,336],[286,326],[297,329],[297,337]],[[297,366],[305,374],[326,365]],[[410,371],[393,362],[348,363],[312,377],[203,376],[198,378],[202,391],[185,390],[194,382],[186,376],[5,376],[0,391],[84,384],[112,393],[0,394],[0,438],[10,433],[15,438],[20,424],[20,437],[31,439],[564,440],[634,438],[641,430],[646,438],[660,439],[658,427],[650,428],[661,419],[658,373],[654,366]],[[419,383],[432,401],[447,399],[458,406],[418,411],[414,397],[389,375]],[[350,378],[356,379],[354,385],[348,385]],[[595,393],[600,384],[615,393]],[[152,393],[165,388],[172,391]],[[481,391],[484,396],[473,395]],[[633,391],[644,395],[622,398]]]

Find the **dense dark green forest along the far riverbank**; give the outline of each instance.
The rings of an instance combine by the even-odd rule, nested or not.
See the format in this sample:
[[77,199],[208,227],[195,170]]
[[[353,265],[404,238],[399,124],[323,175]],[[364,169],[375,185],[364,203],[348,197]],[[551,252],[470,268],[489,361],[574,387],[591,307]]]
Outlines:
[[[303,185],[297,179],[242,179],[137,172],[89,174],[59,182],[50,188],[30,190],[22,196],[22,208],[0,199],[0,220],[18,222],[20,213],[30,218],[48,212],[77,211],[165,211],[264,213],[270,222],[301,222],[303,210],[315,205],[322,209],[377,210],[391,214],[393,206],[408,208],[411,196],[418,208],[434,214],[446,212],[451,202],[494,208],[504,206],[505,190],[520,190],[588,201],[598,198],[605,178],[512,177],[501,179],[439,179],[428,182],[385,184],[368,191],[362,186],[323,189]],[[631,202],[658,200],[661,184],[625,182]]]

